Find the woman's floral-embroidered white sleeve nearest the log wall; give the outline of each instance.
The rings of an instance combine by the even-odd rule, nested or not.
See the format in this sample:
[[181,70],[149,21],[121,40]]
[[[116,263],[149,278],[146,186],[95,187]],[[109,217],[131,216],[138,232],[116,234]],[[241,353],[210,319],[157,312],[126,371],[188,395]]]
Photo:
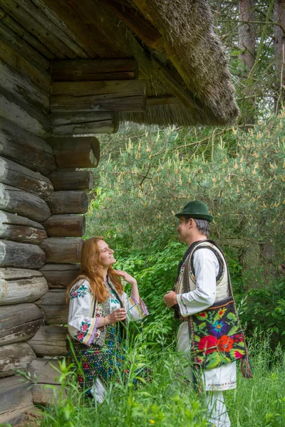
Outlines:
[[93,295],[88,280],[79,280],[69,292],[68,332],[71,337],[90,346],[97,329],[98,317],[93,317]]

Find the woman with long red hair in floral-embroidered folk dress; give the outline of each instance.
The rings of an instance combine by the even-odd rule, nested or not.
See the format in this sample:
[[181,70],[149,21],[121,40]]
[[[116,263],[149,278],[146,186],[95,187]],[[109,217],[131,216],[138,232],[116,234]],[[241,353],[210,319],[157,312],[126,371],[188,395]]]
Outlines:
[[[81,251],[81,273],[66,290],[71,353],[80,367],[78,381],[100,403],[108,380],[125,371],[120,344],[127,319],[148,315],[135,278],[113,269],[113,253],[103,238],[89,238]],[[120,278],[132,285],[130,297]]]

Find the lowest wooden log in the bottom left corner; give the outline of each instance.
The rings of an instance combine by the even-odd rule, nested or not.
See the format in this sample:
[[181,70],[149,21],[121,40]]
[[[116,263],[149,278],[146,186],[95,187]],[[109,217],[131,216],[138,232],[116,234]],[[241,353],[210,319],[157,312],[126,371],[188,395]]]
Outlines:
[[24,421],[25,413],[33,408],[30,384],[19,376],[0,379],[0,422],[1,426],[14,426]]

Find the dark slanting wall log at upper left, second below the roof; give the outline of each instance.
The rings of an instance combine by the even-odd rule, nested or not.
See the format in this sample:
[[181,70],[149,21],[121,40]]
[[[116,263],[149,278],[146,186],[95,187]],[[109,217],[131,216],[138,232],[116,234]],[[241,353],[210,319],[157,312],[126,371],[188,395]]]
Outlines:
[[0,59],[9,65],[10,68],[21,74],[26,80],[31,81],[34,85],[40,88],[43,93],[51,92],[51,75],[46,70],[39,70],[29,60],[24,58],[25,53],[16,52],[14,48],[9,46],[0,39]]

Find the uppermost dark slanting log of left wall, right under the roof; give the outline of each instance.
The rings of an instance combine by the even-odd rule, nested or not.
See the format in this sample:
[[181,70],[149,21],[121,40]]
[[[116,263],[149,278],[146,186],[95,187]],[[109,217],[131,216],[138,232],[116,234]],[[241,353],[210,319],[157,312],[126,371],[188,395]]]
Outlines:
[[29,43],[24,41],[24,38],[14,33],[14,31],[2,21],[0,21],[0,38],[14,48],[20,55],[24,52],[26,59],[33,65],[36,65],[40,70],[48,70],[49,60],[42,56],[41,53],[38,53],[36,49],[33,49]]

